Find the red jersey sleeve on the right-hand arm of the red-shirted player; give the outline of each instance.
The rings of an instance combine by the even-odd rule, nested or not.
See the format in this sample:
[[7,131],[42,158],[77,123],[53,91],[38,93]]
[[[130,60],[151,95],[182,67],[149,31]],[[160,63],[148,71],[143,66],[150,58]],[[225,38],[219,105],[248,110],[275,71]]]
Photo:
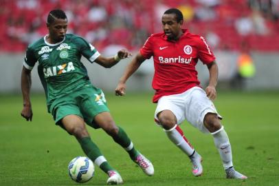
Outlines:
[[199,49],[199,59],[203,62],[203,64],[209,64],[215,60],[215,56],[213,52],[210,50],[208,43],[206,43],[203,37],[200,37],[198,43],[198,49]]

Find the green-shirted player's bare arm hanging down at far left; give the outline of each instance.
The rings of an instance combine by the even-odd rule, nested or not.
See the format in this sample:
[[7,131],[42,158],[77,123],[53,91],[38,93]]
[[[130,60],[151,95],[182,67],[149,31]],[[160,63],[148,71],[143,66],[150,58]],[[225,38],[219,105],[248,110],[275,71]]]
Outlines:
[[27,70],[25,67],[23,67],[21,72],[21,92],[23,96],[23,110],[21,111],[21,116],[23,116],[26,121],[32,121],[33,117],[30,101],[31,83],[31,70]]

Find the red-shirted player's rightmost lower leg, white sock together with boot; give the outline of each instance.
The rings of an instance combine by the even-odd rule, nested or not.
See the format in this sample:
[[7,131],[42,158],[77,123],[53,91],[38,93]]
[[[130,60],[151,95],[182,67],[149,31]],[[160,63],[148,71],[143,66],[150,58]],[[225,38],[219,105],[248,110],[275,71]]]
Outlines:
[[214,138],[215,146],[217,147],[223,167],[227,174],[227,178],[247,179],[247,176],[236,172],[232,163],[232,147],[230,145],[229,137],[222,126],[221,129],[211,133]]

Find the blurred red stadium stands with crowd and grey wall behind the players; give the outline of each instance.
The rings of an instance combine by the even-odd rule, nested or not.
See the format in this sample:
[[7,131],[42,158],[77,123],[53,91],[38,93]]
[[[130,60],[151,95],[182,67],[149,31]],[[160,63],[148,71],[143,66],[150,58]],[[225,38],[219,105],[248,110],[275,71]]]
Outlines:
[[[161,15],[179,8],[184,28],[207,39],[219,63],[219,88],[279,89],[278,0],[1,0],[0,93],[20,92],[20,73],[27,45],[47,34],[49,10],[61,8],[69,19],[69,33],[85,37],[109,56],[120,48],[134,54],[153,32],[161,32]],[[241,58],[248,54],[248,59]],[[249,58],[250,57],[250,58]],[[240,60],[252,62],[239,78]],[[107,70],[85,62],[91,81],[114,90],[127,61]],[[208,71],[198,65],[202,85]],[[33,91],[42,92],[36,70]],[[153,63],[146,62],[129,80],[129,90],[151,90]],[[9,81],[7,81],[9,80]]]

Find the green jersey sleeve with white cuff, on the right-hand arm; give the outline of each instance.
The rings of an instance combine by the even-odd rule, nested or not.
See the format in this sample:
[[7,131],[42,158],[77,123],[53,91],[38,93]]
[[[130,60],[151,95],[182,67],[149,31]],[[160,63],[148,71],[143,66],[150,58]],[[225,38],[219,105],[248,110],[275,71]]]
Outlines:
[[93,45],[85,41],[85,39],[77,37],[75,40],[78,50],[82,56],[85,56],[85,58],[91,63],[93,63],[98,58],[98,56],[100,56],[100,52],[98,52],[98,50]]

